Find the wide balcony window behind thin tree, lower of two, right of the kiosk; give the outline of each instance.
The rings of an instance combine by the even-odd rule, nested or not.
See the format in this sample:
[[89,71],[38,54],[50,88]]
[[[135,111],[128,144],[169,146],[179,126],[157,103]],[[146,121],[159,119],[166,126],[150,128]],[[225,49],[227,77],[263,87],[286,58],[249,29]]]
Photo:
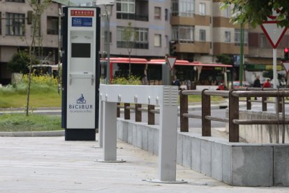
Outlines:
[[117,27],[117,48],[139,48],[148,49],[149,48],[149,29],[147,28],[133,28],[130,40],[127,39],[127,34],[125,32],[125,27]]

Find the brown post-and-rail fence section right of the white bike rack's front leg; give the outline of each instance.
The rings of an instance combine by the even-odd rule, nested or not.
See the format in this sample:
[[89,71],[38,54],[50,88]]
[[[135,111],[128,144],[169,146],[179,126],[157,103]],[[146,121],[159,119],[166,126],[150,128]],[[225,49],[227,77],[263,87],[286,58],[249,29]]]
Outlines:
[[[202,115],[188,113],[188,95],[202,96]],[[229,117],[211,116],[211,96],[226,96],[229,98]],[[212,90],[182,90],[180,92],[180,131],[188,132],[188,118],[197,118],[202,120],[202,136],[211,136],[211,121],[225,122],[229,125],[229,142],[239,142],[240,124],[282,124],[282,143],[285,138],[285,99],[289,96],[289,90],[277,89],[251,89],[251,90],[230,90],[230,91],[212,91]],[[262,110],[267,110],[267,103],[276,103],[276,119],[274,120],[239,120],[239,97],[246,98],[247,110],[251,109],[252,102],[262,102]],[[262,97],[262,101],[253,101],[251,97]],[[267,101],[267,97],[275,97],[276,101]],[[280,118],[279,113],[282,112]]]

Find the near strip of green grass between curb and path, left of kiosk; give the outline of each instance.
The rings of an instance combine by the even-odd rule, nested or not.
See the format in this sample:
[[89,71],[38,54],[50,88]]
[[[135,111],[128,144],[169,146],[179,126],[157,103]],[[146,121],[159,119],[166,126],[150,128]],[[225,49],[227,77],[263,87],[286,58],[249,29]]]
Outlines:
[[61,117],[52,115],[29,115],[24,113],[0,116],[0,131],[56,131],[62,130]]

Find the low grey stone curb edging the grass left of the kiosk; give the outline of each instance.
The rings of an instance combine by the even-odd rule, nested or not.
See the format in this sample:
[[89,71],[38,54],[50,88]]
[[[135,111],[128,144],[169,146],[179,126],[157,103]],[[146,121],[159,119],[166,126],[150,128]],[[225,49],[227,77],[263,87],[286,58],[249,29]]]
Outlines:
[[0,137],[44,137],[44,136],[64,136],[64,130],[60,131],[19,131],[0,132]]

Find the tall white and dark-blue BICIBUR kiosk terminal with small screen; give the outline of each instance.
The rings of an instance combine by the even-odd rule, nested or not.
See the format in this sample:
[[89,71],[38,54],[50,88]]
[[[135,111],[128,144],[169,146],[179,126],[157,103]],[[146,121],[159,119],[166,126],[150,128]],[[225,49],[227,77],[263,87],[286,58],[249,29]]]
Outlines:
[[64,7],[62,126],[66,141],[95,141],[99,8]]

